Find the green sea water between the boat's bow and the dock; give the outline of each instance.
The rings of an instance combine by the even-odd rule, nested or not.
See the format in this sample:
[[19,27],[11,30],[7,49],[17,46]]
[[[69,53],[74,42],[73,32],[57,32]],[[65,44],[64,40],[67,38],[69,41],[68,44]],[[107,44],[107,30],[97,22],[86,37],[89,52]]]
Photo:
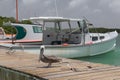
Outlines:
[[116,48],[113,51],[91,57],[76,58],[77,60],[120,66],[120,34],[117,37]]

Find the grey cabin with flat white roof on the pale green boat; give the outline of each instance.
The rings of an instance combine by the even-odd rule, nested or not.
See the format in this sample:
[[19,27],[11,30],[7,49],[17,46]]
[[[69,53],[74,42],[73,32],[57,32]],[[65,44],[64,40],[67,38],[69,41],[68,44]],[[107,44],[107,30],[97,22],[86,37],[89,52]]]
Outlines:
[[91,40],[87,37],[89,30],[85,20],[62,17],[33,17],[30,20],[43,27],[45,45],[83,44]]

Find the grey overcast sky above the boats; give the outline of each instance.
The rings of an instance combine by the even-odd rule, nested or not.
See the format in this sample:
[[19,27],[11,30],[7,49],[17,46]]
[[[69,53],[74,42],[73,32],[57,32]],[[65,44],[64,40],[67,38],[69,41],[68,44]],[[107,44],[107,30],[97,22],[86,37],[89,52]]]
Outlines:
[[[19,19],[56,16],[55,0],[18,0]],[[86,17],[97,27],[120,28],[120,0],[56,0],[58,15]],[[15,0],[0,0],[0,16],[15,17]]]

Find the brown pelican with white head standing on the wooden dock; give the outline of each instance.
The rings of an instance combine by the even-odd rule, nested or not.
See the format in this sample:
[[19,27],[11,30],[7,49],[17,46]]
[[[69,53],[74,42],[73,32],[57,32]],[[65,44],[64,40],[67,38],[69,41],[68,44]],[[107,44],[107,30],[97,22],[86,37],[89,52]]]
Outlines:
[[52,65],[52,63],[57,63],[60,62],[61,59],[58,59],[56,56],[45,56],[44,53],[45,50],[45,46],[42,45],[40,47],[40,55],[39,55],[39,61],[42,61],[44,63],[48,63],[47,67],[50,67]]

